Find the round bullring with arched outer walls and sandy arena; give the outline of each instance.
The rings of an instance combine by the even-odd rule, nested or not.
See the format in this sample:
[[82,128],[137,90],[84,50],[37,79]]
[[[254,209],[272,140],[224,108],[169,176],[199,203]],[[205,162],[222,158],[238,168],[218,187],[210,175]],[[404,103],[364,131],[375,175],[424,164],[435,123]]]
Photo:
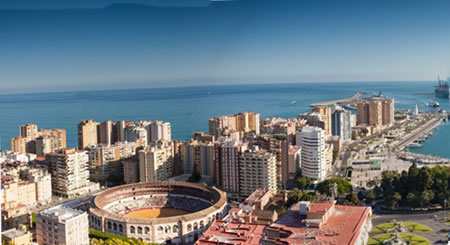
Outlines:
[[226,212],[226,193],[185,182],[117,186],[97,195],[89,226],[159,244],[192,243]]

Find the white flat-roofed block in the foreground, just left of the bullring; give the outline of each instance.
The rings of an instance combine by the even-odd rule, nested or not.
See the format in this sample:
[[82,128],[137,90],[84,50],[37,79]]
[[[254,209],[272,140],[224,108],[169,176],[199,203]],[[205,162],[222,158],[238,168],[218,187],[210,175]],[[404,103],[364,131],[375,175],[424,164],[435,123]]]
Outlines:
[[57,206],[40,212],[36,217],[38,244],[89,244],[89,221],[86,212]]

